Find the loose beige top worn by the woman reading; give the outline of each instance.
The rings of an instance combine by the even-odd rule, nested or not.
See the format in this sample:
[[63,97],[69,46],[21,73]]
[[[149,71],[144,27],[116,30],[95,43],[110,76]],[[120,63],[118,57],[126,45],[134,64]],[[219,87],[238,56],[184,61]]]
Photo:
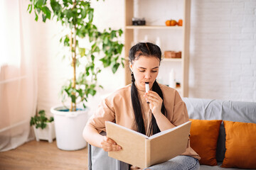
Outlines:
[[[182,101],[181,96],[175,89],[162,84],[159,84],[159,86],[164,95],[164,106],[167,111],[167,118],[173,125],[176,126],[186,123],[189,120],[188,112],[186,109],[186,104]],[[145,91],[138,92],[142,103],[142,116],[144,118],[145,130],[147,131],[152,114],[149,109],[149,104],[146,103],[143,96]],[[102,130],[106,131],[106,120],[137,131],[131,101],[131,84],[124,86],[122,89],[114,91],[114,93],[102,100],[97,108],[97,111],[88,120],[87,125],[97,129],[97,131],[100,133]],[[182,155],[188,155],[195,157],[196,159],[200,159],[199,155],[190,147],[189,140],[186,152],[184,152]]]

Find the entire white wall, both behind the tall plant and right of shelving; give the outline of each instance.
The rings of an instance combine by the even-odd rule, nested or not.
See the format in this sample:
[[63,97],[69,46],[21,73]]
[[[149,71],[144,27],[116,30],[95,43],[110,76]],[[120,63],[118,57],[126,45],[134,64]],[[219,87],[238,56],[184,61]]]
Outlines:
[[[97,7],[98,28],[123,28],[123,1],[93,1],[92,5]],[[256,101],[255,6],[256,1],[249,0],[192,0],[190,97]],[[40,28],[34,30],[38,33],[38,109],[50,113],[51,106],[61,105],[60,87],[71,77],[58,43],[61,26],[52,21],[36,23],[33,15],[29,19]],[[99,80],[105,89],[88,103],[92,112],[102,95],[124,85],[124,70],[113,75],[105,69]]]

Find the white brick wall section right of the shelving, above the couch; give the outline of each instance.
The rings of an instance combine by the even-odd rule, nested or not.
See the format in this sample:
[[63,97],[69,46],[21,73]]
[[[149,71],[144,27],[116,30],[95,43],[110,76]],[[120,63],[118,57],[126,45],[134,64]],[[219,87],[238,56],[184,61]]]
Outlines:
[[190,97],[256,101],[256,1],[191,1]]

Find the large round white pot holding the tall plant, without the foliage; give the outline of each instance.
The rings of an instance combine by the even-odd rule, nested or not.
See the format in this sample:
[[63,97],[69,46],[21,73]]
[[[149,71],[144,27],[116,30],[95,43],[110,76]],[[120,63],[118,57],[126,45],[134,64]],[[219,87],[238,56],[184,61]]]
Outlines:
[[86,147],[87,142],[82,137],[88,119],[89,109],[84,111],[63,111],[63,106],[50,108],[55,122],[57,147],[63,150],[78,150]]

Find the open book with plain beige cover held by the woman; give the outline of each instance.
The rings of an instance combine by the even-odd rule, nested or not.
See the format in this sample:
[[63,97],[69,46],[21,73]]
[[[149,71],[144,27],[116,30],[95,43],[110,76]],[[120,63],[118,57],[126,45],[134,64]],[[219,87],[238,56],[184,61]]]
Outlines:
[[107,137],[122,147],[108,156],[142,169],[166,162],[186,151],[191,121],[159,132],[151,137],[106,121]]

